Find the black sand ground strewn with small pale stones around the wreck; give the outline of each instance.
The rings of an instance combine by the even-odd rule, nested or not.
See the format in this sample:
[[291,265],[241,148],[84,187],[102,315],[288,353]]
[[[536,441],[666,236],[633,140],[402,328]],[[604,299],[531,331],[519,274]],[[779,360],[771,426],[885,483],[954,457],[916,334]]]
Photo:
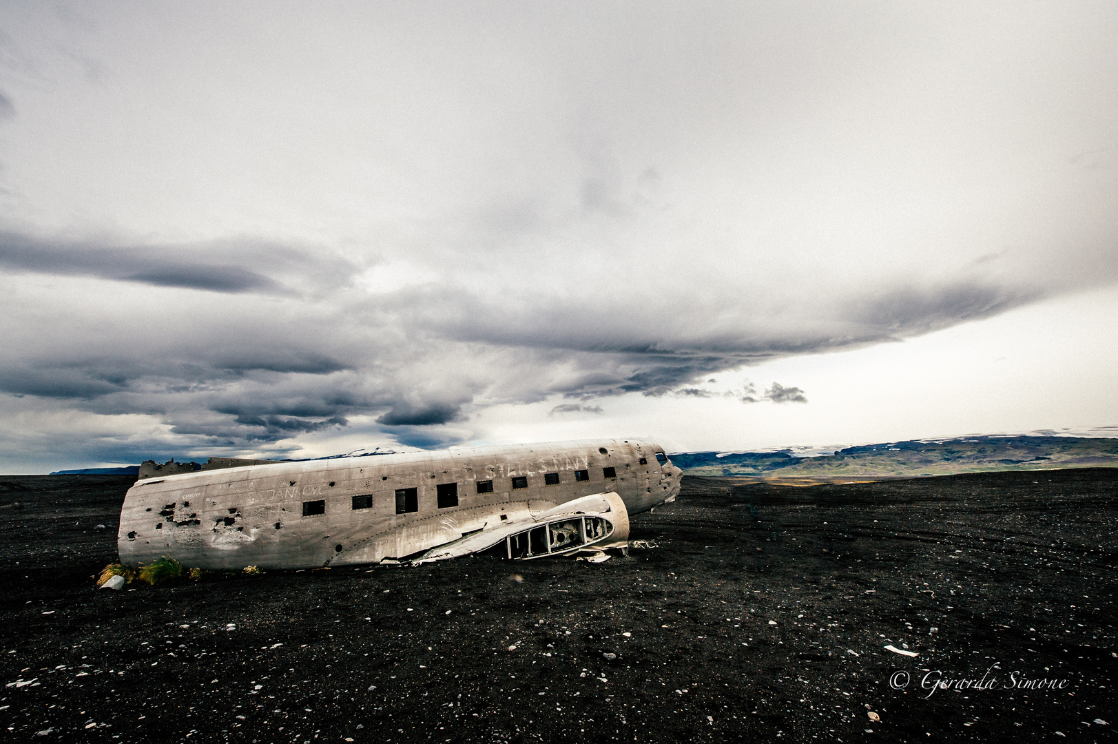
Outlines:
[[127,484],[0,477],[13,741],[1101,742],[1118,724],[1118,470],[691,478],[634,518],[656,547],[598,565],[97,592]]

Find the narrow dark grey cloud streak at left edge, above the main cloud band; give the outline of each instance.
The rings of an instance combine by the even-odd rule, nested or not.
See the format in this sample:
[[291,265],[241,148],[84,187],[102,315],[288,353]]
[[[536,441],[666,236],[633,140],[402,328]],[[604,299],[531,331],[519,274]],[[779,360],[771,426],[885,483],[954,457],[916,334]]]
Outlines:
[[295,291],[280,279],[348,284],[347,262],[262,241],[123,246],[104,241],[42,239],[0,232],[0,267],[61,276],[95,276],[221,293]]

